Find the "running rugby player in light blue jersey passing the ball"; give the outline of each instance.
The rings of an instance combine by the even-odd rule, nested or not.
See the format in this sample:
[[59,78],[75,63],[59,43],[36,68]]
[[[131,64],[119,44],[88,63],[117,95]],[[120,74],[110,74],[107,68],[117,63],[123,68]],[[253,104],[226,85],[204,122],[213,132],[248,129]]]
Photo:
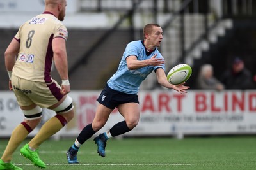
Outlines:
[[97,101],[99,106],[92,124],[86,125],[80,132],[74,144],[67,152],[68,163],[77,164],[77,152],[83,143],[99,131],[107,122],[110,113],[117,108],[124,117],[107,132],[94,138],[98,146],[97,152],[105,157],[106,141],[114,136],[131,131],[139,122],[140,105],[138,90],[145,78],[155,71],[157,81],[163,87],[186,93],[189,89],[184,85],[172,85],[167,81],[164,71],[164,58],[157,50],[163,39],[163,30],[158,24],[147,24],[143,29],[143,41],[128,43],[120,61],[119,67],[109,78]]

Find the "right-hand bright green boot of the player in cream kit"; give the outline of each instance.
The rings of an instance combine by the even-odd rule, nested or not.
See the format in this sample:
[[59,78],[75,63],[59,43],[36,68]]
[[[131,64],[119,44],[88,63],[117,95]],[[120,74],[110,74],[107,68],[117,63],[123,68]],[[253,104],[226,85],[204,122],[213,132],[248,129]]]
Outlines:
[[45,163],[39,158],[38,150],[33,151],[29,148],[28,144],[20,149],[20,154],[33,162],[35,166],[45,168]]

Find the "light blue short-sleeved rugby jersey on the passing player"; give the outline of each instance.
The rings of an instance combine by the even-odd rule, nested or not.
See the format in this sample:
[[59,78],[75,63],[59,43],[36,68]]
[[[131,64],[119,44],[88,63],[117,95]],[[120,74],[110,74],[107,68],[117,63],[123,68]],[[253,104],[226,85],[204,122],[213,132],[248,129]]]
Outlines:
[[162,58],[164,60],[157,48],[154,50],[154,52],[147,56],[145,46],[141,40],[130,42],[125,48],[116,73],[109,78],[107,82],[108,86],[111,89],[119,92],[137,94],[140,84],[143,80],[145,80],[145,78],[147,78],[148,74],[152,73],[152,71],[156,70],[157,68],[165,69],[164,64],[162,66],[147,66],[136,70],[129,70],[127,67],[126,58],[130,55],[135,55],[138,60],[146,60],[150,59],[156,53],[157,58]]

